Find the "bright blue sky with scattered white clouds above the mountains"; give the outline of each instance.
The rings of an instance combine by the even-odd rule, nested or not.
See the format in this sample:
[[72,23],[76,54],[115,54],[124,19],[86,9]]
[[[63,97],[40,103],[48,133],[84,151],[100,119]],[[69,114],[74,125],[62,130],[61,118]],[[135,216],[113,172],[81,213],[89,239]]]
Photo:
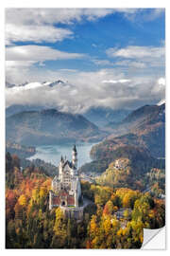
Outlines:
[[[120,101],[136,86],[129,107],[144,96],[139,104],[159,101],[165,83],[164,20],[164,9],[7,9],[7,81],[62,79],[82,90],[103,90],[105,84],[106,93],[108,84],[115,93],[117,83],[126,83]],[[153,91],[150,97],[146,88]],[[102,104],[116,107],[117,101]]]

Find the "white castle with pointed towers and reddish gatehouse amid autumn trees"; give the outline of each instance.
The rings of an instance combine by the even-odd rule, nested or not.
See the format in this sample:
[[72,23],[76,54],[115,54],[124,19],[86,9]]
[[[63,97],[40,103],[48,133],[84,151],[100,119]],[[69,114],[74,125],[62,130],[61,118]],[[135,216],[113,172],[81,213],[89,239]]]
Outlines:
[[76,145],[72,151],[72,161],[61,156],[59,175],[55,176],[49,192],[49,209],[60,207],[67,216],[81,218],[83,207],[79,207],[81,186],[77,172]]

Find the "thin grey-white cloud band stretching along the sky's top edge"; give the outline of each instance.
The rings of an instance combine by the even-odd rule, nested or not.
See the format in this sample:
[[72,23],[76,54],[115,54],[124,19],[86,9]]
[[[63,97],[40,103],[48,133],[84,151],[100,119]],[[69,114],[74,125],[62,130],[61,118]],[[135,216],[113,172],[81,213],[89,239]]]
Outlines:
[[152,19],[161,15],[164,9],[6,9],[6,21],[10,24],[41,25],[41,24],[72,24],[82,20],[94,21],[115,12],[120,12],[125,17],[129,15],[152,16]]

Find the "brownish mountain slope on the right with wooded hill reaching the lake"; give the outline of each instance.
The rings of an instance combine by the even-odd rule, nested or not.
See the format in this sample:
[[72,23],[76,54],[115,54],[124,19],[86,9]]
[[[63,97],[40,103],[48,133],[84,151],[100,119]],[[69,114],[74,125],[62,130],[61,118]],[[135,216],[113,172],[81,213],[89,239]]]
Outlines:
[[[112,161],[122,157],[130,159],[133,165],[137,163],[135,169],[138,170],[139,167],[142,169],[136,171],[137,173],[143,173],[148,166],[164,168],[164,103],[141,107],[130,113],[116,127],[113,125],[111,129],[113,133],[110,136],[93,146],[91,150],[93,161],[82,166],[81,172],[86,173],[91,170],[94,173],[103,173]],[[115,136],[116,133],[120,136]]]

